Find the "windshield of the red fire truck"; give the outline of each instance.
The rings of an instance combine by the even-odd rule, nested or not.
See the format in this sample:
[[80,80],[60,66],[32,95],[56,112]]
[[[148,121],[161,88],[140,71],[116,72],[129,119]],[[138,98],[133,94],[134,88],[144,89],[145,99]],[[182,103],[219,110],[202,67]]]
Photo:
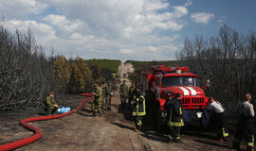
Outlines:
[[197,78],[192,76],[169,76],[163,77],[162,87],[174,86],[198,86]]

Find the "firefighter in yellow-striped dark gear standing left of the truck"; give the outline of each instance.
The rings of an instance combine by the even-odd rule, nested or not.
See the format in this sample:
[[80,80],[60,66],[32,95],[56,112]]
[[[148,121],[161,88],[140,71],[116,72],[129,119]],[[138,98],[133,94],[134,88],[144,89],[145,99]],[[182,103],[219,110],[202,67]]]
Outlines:
[[133,117],[135,121],[135,131],[141,130],[142,119],[146,115],[146,100],[144,92],[142,91],[142,85],[138,85],[136,88],[136,98],[134,99]]

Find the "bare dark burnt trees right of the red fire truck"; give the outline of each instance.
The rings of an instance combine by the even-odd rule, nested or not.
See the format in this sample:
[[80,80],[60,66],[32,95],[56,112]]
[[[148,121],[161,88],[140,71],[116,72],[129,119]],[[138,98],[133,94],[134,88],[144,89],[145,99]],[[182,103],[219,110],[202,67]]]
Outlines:
[[210,78],[214,97],[233,110],[245,93],[256,93],[256,35],[241,34],[223,25],[209,40],[186,39],[177,54],[199,76]]

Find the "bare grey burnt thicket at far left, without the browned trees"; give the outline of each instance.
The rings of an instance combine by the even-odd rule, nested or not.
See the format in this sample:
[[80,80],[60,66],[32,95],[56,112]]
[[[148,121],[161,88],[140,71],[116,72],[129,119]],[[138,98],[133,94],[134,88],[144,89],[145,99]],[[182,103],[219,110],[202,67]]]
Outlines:
[[0,25],[0,110],[40,107],[47,92],[58,92],[52,63],[27,34]]

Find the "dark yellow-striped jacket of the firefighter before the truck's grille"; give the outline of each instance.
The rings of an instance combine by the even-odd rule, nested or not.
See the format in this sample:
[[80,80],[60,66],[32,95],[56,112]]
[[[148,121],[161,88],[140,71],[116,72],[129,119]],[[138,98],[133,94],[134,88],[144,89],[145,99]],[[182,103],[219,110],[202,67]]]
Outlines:
[[184,126],[182,119],[182,105],[180,101],[176,99],[172,100],[172,103],[170,103],[167,120],[167,125],[169,126]]

